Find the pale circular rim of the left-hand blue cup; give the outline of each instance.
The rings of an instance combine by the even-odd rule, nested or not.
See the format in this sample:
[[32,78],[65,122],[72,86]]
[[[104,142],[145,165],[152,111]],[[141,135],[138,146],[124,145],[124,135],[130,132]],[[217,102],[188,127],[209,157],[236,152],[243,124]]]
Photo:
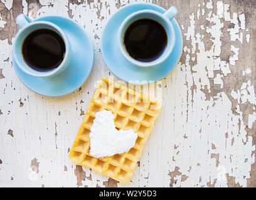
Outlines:
[[[26,61],[24,61],[24,59],[23,59],[23,61],[20,61],[17,58],[17,55],[16,55],[17,51],[20,51],[19,50],[20,48],[18,48],[18,47],[22,47],[22,44],[23,44],[23,41],[22,41],[21,42],[21,46],[16,47],[16,45],[17,45],[16,41],[18,41],[19,37],[21,36],[21,34],[24,31],[26,31],[26,29],[28,29],[31,26],[35,26],[36,24],[47,24],[48,26],[54,27],[54,29],[56,29],[57,31],[55,31],[55,30],[53,30],[53,31],[57,32],[61,36],[61,38],[63,39],[63,41],[65,43],[65,56],[64,56],[63,61],[61,62],[61,64],[57,68],[52,69],[50,71],[46,71],[46,72],[44,72],[44,71],[36,71],[35,69],[30,68],[28,66],[28,64],[26,63]],[[37,29],[40,29],[40,28],[37,28]],[[33,32],[35,30],[36,29],[33,29],[32,31],[29,31],[28,34],[30,34],[31,32]],[[26,36],[28,36],[28,34],[26,34]],[[31,76],[37,76],[37,77],[42,77],[43,78],[43,77],[53,76],[54,74],[58,74],[61,71],[61,69],[63,68],[64,64],[68,61],[69,51],[70,51],[70,44],[68,42],[68,38],[67,38],[65,32],[62,31],[60,27],[58,27],[56,24],[53,24],[52,22],[48,22],[48,21],[35,21],[35,22],[32,21],[32,22],[29,22],[28,26],[25,26],[22,29],[20,29],[18,34],[16,35],[15,40],[14,40],[14,49],[13,49],[14,54],[13,54],[13,56],[14,56],[14,59],[15,59],[17,65],[19,66],[19,68],[22,71],[24,71],[24,73],[29,74]],[[24,65],[26,65],[26,67],[28,67],[31,70],[26,69],[26,67],[24,67]]]

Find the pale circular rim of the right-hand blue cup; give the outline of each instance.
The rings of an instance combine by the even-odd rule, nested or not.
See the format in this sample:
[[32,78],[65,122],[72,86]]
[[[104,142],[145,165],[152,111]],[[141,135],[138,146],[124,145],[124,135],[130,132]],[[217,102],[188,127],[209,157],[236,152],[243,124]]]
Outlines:
[[[155,14],[157,15],[158,17],[161,17],[162,19],[164,19],[164,21],[168,24],[169,26],[169,29],[171,31],[171,36],[173,39],[169,39],[168,37],[168,45],[169,45],[169,48],[167,49],[167,53],[164,55],[164,56],[160,56],[159,58],[157,58],[156,60],[152,61],[152,62],[141,62],[141,61],[137,61],[136,59],[132,58],[128,53],[127,51],[125,50],[125,46],[124,46],[124,42],[123,42],[123,37],[124,37],[124,34],[125,34],[125,31],[127,29],[127,27],[132,24],[132,22],[129,23],[129,20],[134,17],[134,16],[137,16],[139,14],[142,14],[142,13],[151,13],[151,14]],[[146,17],[145,17],[146,18]],[[141,18],[142,19],[142,18]],[[144,18],[143,18],[144,19]],[[150,19],[150,18],[149,18]],[[138,20],[138,19],[136,19]],[[154,20],[154,19],[153,19]],[[161,24],[161,22],[159,22],[159,24]],[[162,25],[162,24],[161,24]],[[163,25],[162,25],[163,26]],[[164,27],[164,26],[163,26]],[[164,29],[166,30],[166,28],[164,27]],[[174,43],[175,43],[175,32],[174,32],[174,29],[173,29],[173,24],[171,24],[171,20],[168,19],[168,17],[164,16],[164,13],[160,13],[160,12],[157,12],[157,11],[153,11],[151,9],[144,9],[144,10],[141,10],[141,11],[136,11],[136,12],[133,12],[132,14],[130,14],[129,16],[127,16],[124,21],[122,22],[121,26],[119,27],[119,30],[118,30],[118,33],[117,33],[117,38],[118,38],[118,44],[119,44],[119,49],[122,53],[122,55],[124,56],[125,59],[127,59],[127,61],[129,61],[130,63],[136,65],[136,66],[139,66],[139,67],[142,67],[142,68],[149,68],[149,67],[152,67],[152,66],[157,66],[158,64],[161,64],[163,63],[167,58],[168,56],[171,54],[171,51],[173,51],[173,47],[174,47]],[[166,50],[165,50],[166,51]]]

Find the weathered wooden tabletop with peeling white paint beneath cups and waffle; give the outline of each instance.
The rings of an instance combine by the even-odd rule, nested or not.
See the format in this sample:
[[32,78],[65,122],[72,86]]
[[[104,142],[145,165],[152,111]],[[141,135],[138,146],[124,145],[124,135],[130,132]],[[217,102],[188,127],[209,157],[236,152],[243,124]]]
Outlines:
[[[176,69],[154,86],[163,109],[129,184],[74,166],[68,151],[94,84],[113,76],[100,53],[109,17],[134,1],[0,1],[0,186],[255,187],[256,2],[153,1],[178,8],[184,40]],[[92,38],[95,64],[82,88],[46,98],[19,81],[12,44],[19,13],[61,15]],[[118,63],[117,63],[118,64]],[[131,86],[132,87],[132,86]]]

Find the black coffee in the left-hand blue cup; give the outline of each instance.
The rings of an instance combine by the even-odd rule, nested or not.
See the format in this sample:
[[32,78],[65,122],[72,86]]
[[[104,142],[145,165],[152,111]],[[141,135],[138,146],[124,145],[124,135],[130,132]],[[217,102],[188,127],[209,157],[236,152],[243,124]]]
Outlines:
[[37,71],[57,68],[65,56],[65,42],[61,36],[50,29],[31,32],[23,42],[23,58]]

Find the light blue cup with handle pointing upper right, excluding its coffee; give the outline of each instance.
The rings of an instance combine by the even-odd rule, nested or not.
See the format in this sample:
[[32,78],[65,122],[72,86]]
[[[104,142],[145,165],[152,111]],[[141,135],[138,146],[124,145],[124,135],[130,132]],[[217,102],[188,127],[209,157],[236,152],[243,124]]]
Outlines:
[[[161,14],[160,12],[153,11],[151,9],[144,9],[141,11],[133,12],[131,15],[127,16],[124,21],[122,22],[121,26],[119,27],[119,31],[117,34],[118,39],[118,45],[119,49],[127,61],[129,61],[131,64],[134,64],[135,66],[139,66],[142,68],[146,67],[152,67],[157,66],[161,63],[163,63],[171,54],[171,51],[173,51],[173,47],[175,44],[175,32],[173,29],[173,24],[171,23],[171,20],[174,16],[177,14],[177,9],[174,6],[171,6],[171,8],[168,9],[164,14]],[[125,49],[124,44],[124,35],[127,28],[135,21],[139,19],[152,19],[154,21],[159,22],[161,24],[167,35],[167,44],[166,48],[164,49],[163,53],[159,58],[157,58],[154,61],[151,62],[142,62],[137,61],[136,59],[132,58],[127,50]]]

